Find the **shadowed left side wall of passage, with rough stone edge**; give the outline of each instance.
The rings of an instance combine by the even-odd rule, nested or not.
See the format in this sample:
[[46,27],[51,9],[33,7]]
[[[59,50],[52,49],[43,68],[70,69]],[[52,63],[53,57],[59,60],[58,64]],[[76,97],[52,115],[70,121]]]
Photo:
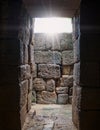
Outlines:
[[21,130],[30,109],[31,24],[21,0],[1,1],[0,130]]

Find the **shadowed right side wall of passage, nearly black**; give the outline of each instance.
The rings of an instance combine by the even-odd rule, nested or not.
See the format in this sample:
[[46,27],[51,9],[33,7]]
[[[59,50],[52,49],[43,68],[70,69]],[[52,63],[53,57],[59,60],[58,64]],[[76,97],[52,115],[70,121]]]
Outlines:
[[100,19],[97,1],[81,1],[73,18],[75,59],[72,117],[78,130],[100,129]]

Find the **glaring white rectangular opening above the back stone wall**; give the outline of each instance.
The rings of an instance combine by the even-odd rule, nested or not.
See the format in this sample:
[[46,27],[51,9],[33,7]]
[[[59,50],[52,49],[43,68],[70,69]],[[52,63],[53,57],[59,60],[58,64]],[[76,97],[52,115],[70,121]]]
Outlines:
[[34,33],[71,33],[70,18],[35,18]]

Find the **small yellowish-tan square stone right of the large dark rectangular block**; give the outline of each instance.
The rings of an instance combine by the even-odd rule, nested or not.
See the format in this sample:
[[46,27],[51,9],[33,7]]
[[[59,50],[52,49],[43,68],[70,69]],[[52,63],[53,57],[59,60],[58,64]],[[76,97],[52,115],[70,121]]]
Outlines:
[[73,65],[63,65],[62,66],[62,74],[63,75],[72,75],[73,74]]

